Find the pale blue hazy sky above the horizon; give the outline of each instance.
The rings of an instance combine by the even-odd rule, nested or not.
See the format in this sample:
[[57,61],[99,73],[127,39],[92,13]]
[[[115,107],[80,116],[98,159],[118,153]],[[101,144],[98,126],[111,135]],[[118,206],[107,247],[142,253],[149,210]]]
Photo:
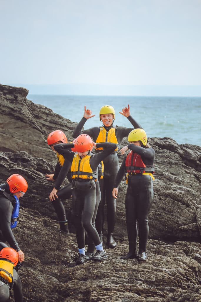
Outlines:
[[0,83],[201,85],[201,0],[1,0]]

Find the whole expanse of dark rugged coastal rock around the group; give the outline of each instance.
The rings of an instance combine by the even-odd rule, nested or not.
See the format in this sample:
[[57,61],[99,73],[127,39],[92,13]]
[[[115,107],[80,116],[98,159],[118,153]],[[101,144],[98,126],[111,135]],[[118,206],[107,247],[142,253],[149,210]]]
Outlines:
[[[20,199],[20,220],[14,229],[26,257],[19,271],[24,301],[201,300],[201,148],[178,145],[171,138],[149,139],[156,156],[145,263],[119,259],[128,249],[127,185],[123,180],[117,201],[117,248],[105,247],[107,261],[75,266],[73,227],[70,224],[69,237],[58,233],[57,217],[48,200],[52,184],[44,176],[54,171],[56,162],[47,135],[61,129],[71,140],[76,123],[27,100],[27,93],[25,88],[0,85],[0,182],[19,173],[29,185]],[[70,218],[71,200],[64,205]]]

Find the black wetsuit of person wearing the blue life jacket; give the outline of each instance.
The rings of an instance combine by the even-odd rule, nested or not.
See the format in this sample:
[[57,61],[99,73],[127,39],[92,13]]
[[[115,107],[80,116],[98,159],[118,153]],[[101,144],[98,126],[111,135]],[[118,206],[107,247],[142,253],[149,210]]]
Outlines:
[[0,188],[5,190],[0,191],[0,240],[7,241],[18,252],[20,248],[11,230],[11,215],[14,209],[12,203],[15,203],[15,198],[7,183],[0,185]]

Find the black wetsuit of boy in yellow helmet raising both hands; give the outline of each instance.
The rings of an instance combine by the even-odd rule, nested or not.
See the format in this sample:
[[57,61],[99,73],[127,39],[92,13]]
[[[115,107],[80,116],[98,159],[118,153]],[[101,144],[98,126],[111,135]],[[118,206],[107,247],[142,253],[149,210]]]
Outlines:
[[[142,128],[132,117],[131,115],[127,117],[130,123],[133,125],[134,128]],[[92,127],[87,130],[82,130],[84,124],[86,123],[87,119],[83,117],[77,127],[74,130],[73,137],[76,138],[78,135],[84,133],[88,134],[90,137],[93,138],[94,142],[100,132],[100,127]],[[113,126],[105,127],[108,132]],[[127,137],[130,131],[133,128],[126,128],[126,127],[116,127],[115,129],[115,136],[117,138],[118,144],[121,143],[124,137]],[[99,150],[97,150],[99,152]],[[99,204],[98,212],[96,215],[96,229],[99,234],[102,234],[103,231],[103,223],[104,223],[104,205],[105,199],[107,204],[107,222],[108,222],[108,234],[113,233],[115,222],[116,222],[116,199],[112,197],[112,190],[114,188],[114,181],[117,175],[119,165],[118,165],[118,156],[117,153],[114,152],[107,156],[104,160],[104,178],[100,180],[100,190],[101,190],[101,202]]]

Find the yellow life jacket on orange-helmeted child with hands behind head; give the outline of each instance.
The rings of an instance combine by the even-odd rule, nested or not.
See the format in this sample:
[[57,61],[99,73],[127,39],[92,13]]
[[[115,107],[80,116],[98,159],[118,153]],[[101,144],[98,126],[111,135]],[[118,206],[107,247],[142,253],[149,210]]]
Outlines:
[[97,171],[93,171],[90,167],[90,157],[91,155],[86,155],[80,158],[78,154],[74,155],[71,164],[71,178],[82,178],[82,179],[95,179],[97,180]]

